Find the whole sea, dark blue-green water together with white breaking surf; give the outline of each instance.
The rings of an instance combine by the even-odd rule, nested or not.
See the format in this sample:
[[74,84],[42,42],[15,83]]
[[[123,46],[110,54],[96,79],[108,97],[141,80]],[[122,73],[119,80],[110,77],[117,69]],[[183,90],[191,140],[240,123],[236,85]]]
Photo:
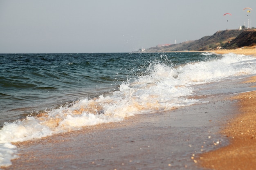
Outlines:
[[254,74],[234,53],[0,54],[0,166],[14,142],[200,104],[195,85]]

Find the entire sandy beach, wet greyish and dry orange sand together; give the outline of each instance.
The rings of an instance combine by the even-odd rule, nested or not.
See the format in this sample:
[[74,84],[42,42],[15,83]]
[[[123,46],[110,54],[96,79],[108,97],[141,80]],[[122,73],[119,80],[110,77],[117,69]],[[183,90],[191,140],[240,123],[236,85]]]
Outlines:
[[[214,53],[256,54],[244,50]],[[224,90],[205,95],[211,86]],[[2,169],[255,169],[256,77],[211,86],[194,96],[207,103],[16,143],[20,158]],[[234,94],[232,86],[249,92]]]

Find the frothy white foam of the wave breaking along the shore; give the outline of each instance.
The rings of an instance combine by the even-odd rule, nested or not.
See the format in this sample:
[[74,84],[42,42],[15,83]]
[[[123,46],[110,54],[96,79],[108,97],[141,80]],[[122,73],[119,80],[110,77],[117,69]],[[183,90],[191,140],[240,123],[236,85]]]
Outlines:
[[77,130],[82,126],[122,121],[136,114],[150,114],[195,104],[187,99],[191,84],[218,81],[230,76],[256,73],[255,58],[226,54],[219,60],[196,62],[174,68],[153,64],[150,74],[121,84],[119,91],[94,99],[81,99],[72,106],[45,111],[38,117],[26,117],[4,124],[0,130],[0,166],[11,165],[16,146],[11,142],[39,139],[54,133]]

